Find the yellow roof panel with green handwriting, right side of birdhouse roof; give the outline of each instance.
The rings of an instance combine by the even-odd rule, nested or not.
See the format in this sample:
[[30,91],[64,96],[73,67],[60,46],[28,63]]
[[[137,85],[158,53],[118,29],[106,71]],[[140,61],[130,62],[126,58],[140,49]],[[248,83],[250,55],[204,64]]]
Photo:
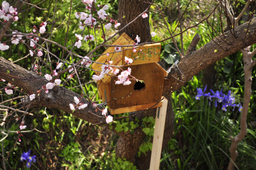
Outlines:
[[[139,50],[142,50],[142,52],[138,52]],[[141,47],[136,48],[136,52],[134,53],[132,51],[133,49],[128,49],[123,51],[123,62],[122,64],[125,64],[124,57],[132,58],[134,60],[136,57],[138,59],[134,60],[132,62],[132,65],[138,65],[138,64],[146,64],[146,63],[155,63],[160,61],[160,53],[161,53],[161,44],[146,44]]]

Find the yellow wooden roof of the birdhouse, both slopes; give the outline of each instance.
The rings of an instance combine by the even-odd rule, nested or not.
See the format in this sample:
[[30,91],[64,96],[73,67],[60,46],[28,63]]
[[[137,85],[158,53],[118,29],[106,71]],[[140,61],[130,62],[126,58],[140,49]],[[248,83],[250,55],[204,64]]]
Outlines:
[[[125,33],[121,34],[116,41],[112,43],[112,45],[129,45],[133,41],[132,39]],[[165,72],[165,76],[168,73],[156,62],[160,61],[160,53],[161,53],[161,44],[147,44],[143,46],[136,46],[136,52],[133,52],[133,48],[131,47],[123,47],[120,52],[115,52],[115,47],[109,47],[105,50],[103,55],[101,55],[96,62],[105,63],[105,61],[113,61],[112,65],[121,66],[125,64],[125,56],[128,58],[132,58],[133,62],[131,65],[139,65],[139,64],[147,64],[147,63],[155,63],[157,67],[162,69]],[[140,52],[140,50],[142,50]],[[109,56],[106,54],[109,53]],[[96,71],[101,71],[101,64],[93,63],[91,67]],[[112,74],[112,73],[109,73]],[[103,83],[110,82],[111,78],[109,75],[105,74]]]

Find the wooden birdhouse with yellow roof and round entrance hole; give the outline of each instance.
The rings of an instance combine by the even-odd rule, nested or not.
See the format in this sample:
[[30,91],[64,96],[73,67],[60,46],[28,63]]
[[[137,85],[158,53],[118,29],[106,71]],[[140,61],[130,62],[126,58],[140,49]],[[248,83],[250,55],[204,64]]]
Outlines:
[[[131,38],[123,33],[112,45],[129,45],[131,42],[133,42]],[[143,45],[136,50],[133,52],[130,47],[125,47],[120,52],[112,53],[115,49],[110,47],[96,60],[99,63],[110,60],[113,61],[112,65],[121,66],[125,64],[125,56],[132,58],[132,64],[125,65],[122,69],[127,70],[130,67],[131,76],[143,80],[143,82],[136,82],[130,79],[131,84],[128,86],[115,84],[118,80],[117,75],[120,73],[112,76],[113,73],[109,72],[109,75],[105,74],[102,80],[97,81],[98,95],[103,102],[107,102],[111,114],[134,112],[162,105],[161,102],[158,104],[157,102],[161,100],[163,80],[168,73],[157,63],[160,60],[161,44]],[[110,53],[109,56],[106,55],[107,53]],[[94,63],[91,67],[101,71],[101,66],[102,64]]]

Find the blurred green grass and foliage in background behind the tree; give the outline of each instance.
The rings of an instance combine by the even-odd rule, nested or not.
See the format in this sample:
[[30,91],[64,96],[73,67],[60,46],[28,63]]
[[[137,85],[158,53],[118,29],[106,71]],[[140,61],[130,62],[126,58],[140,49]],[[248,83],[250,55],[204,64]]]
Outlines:
[[[30,3],[38,4],[40,0],[33,0]],[[165,19],[170,23],[172,30],[176,30],[175,33],[179,33],[178,26],[178,12],[175,5],[166,0],[157,0],[158,5],[161,6],[161,10],[165,14]],[[177,4],[177,1],[172,1]],[[113,19],[117,19],[118,0],[98,0],[99,4],[108,4],[110,6],[107,10],[108,14]],[[204,14],[209,14],[213,9],[211,5],[215,5],[212,1],[200,1],[196,3],[191,1],[188,8],[188,0],[181,0],[181,12],[187,10],[182,19],[182,26],[189,27],[192,24],[200,22],[203,16],[199,13],[200,10],[204,11]],[[241,11],[244,1],[240,1],[240,5],[237,8],[237,13]],[[25,4],[23,10],[30,8],[30,5]],[[19,21],[14,22],[10,29],[18,30],[22,33],[30,33],[33,26],[38,26],[41,22],[47,22],[46,33],[42,36],[44,38],[50,37],[50,30],[53,27],[52,41],[59,42],[64,45],[65,34],[67,31],[67,23],[69,16],[70,0],[58,1],[56,5],[56,14],[53,20],[53,12],[55,8],[55,1],[45,0],[38,7],[46,8],[47,10],[38,10],[37,8],[31,8],[28,11],[20,12]],[[136,7],[135,7],[136,9]],[[82,12],[85,10],[80,0],[72,0],[72,11],[69,24],[68,41],[67,46],[73,44],[76,41],[75,33],[81,33],[78,27],[79,20],[75,18],[74,13],[76,11]],[[120,9],[121,10],[121,9]],[[161,14],[154,12],[154,8],[151,7],[153,12],[150,12],[150,25],[152,30],[155,26],[157,29],[155,32],[157,36],[153,37],[153,40],[159,41],[169,36],[168,31],[163,27]],[[214,12],[210,18],[212,26],[215,30],[221,32],[219,25],[220,9]],[[226,26],[226,20],[222,13],[223,28]],[[242,23],[243,21],[241,21]],[[176,28],[177,27],[177,28]],[[84,34],[88,34],[88,31],[92,29],[86,29]],[[116,30],[107,31],[107,36],[115,33]],[[9,32],[11,33],[11,32]],[[184,33],[184,48],[188,48],[195,33],[200,34],[201,39],[197,45],[197,49],[209,42],[211,39],[206,35],[209,33],[212,37],[217,35],[212,28],[203,22],[198,27],[189,29]],[[103,39],[100,38],[102,33],[100,30],[96,30],[97,45],[99,45]],[[179,48],[180,37],[175,37]],[[7,41],[3,39],[2,41]],[[112,40],[114,41],[114,39]],[[112,42],[111,41],[111,42]],[[111,44],[109,42],[109,44]],[[40,43],[39,43],[40,44]],[[171,40],[162,42],[161,58],[165,63],[166,69],[169,68],[176,60],[180,60],[175,46]],[[93,49],[96,42],[83,43],[81,48],[74,48],[73,52],[81,56],[85,56],[90,49]],[[70,46],[68,49],[71,49]],[[252,46],[252,50],[255,45]],[[52,44],[50,50],[56,56],[62,55],[62,49]],[[105,49],[101,48],[98,54],[101,54]],[[10,45],[8,52],[0,51],[0,56],[3,56],[11,61],[16,61],[29,54],[29,50],[25,45]],[[45,53],[44,53],[45,54]],[[67,56],[65,52],[64,56]],[[94,58],[95,60],[97,58]],[[78,58],[74,58],[74,61]],[[71,57],[69,58],[72,63]],[[35,63],[34,57],[26,57],[23,60],[17,61],[16,64],[30,69],[31,64]],[[67,67],[67,65],[66,65]],[[53,66],[55,68],[55,66]],[[45,66],[42,66],[42,72],[48,72],[45,70]],[[82,70],[79,72],[84,78],[84,83],[91,81],[92,71]],[[245,139],[238,145],[238,158],[236,162],[236,168],[240,170],[249,170],[256,168],[256,105],[253,102],[256,97],[256,81],[255,81],[255,69],[252,71],[253,84],[252,84],[252,97],[248,112],[248,134]],[[67,78],[68,73],[64,73],[62,79]],[[200,72],[195,75],[193,79],[188,82],[181,89],[173,92],[173,109],[175,113],[175,128],[173,133],[173,139],[169,141],[168,147],[162,152],[160,169],[175,169],[175,170],[221,170],[225,169],[229,162],[229,146],[231,141],[229,136],[235,136],[239,132],[239,113],[237,110],[234,112],[229,109],[227,112],[221,110],[221,106],[215,108],[212,105],[208,105],[207,99],[195,100],[196,87],[203,86],[202,83],[203,74]],[[234,53],[215,64],[213,90],[221,90],[225,93],[231,90],[235,95],[236,100],[241,101],[243,99],[244,88],[244,71],[243,71],[243,58],[241,52]],[[73,77],[65,87],[80,94],[80,89],[76,87],[78,80]],[[5,86],[4,83],[0,84],[1,88]],[[95,83],[86,84],[84,90],[88,91],[90,97],[96,93],[93,101],[99,101],[97,95],[97,86]],[[18,93],[14,94],[14,97],[18,96]],[[1,94],[1,100],[5,101],[10,97]],[[11,102],[9,105],[17,105],[19,100]],[[99,101],[100,103],[100,101]],[[8,105],[8,103],[5,103]],[[18,107],[18,106],[17,106]],[[46,114],[47,113],[47,114]],[[3,116],[1,112],[1,116]],[[121,115],[117,115],[120,117]],[[65,113],[61,110],[51,108],[41,108],[39,111],[33,113],[33,115],[26,117],[26,125],[29,132],[23,133],[24,136],[21,142],[18,142],[17,147],[11,153],[8,161],[5,163],[7,169],[24,169],[26,165],[24,162],[20,162],[20,155],[31,149],[31,155],[37,156],[37,162],[31,169],[77,169],[77,170],[98,170],[98,169],[116,169],[116,170],[135,170],[136,167],[125,159],[117,158],[115,155],[115,147],[118,139],[118,135],[111,131],[108,131],[104,126],[92,125],[89,122],[79,120],[71,114]],[[151,118],[145,118],[143,123],[138,124],[139,121],[128,122],[128,120],[118,121],[115,126],[117,131],[129,131],[133,133],[134,128],[142,126],[143,131],[147,134],[147,139],[144,139],[145,143],[138,151],[140,154],[146,153],[151,149],[150,137],[154,127],[154,121]],[[110,124],[111,125],[111,124]],[[4,126],[1,126],[2,137],[4,137],[10,131],[8,137],[1,142],[0,153],[3,156],[3,152],[10,151],[14,145],[19,123],[15,121],[9,121]],[[6,156],[6,154],[5,154]],[[3,162],[0,169],[3,169]]]

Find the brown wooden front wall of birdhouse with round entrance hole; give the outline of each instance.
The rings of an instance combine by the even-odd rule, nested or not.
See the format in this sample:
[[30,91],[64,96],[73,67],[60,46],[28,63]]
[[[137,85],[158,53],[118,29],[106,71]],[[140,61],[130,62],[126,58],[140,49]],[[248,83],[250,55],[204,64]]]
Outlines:
[[[161,99],[165,73],[157,63],[132,65],[130,67],[132,69],[131,75],[136,79],[143,80],[144,87],[141,86],[142,83],[137,83],[135,80],[130,80],[131,84],[128,86],[115,84],[117,78],[113,78],[110,84],[111,102],[109,106],[111,109],[156,103]],[[139,89],[136,89],[137,85]],[[131,95],[129,95],[130,93]],[[127,95],[129,97],[124,97]]]

